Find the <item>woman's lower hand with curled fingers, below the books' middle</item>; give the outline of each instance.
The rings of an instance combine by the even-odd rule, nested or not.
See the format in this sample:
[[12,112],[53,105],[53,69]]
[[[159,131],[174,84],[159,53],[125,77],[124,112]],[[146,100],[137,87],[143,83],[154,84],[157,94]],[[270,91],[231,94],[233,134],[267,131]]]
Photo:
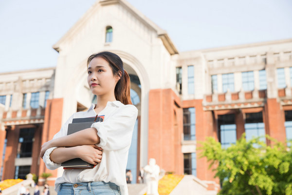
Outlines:
[[77,156],[90,164],[97,165],[101,161],[102,148],[96,145],[76,146],[76,149]]

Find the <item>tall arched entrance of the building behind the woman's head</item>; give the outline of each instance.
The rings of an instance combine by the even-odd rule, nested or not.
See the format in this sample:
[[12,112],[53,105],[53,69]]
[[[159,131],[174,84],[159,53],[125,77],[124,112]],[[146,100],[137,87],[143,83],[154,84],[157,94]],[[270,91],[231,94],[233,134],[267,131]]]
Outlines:
[[[149,80],[145,74],[146,70],[137,59],[122,51],[110,52],[119,55],[124,62],[124,69],[128,72],[131,80],[131,101],[138,109],[138,117],[134,126],[127,164],[127,169],[131,170],[133,175],[132,183],[136,183],[140,167],[147,164]],[[75,72],[77,74],[75,78],[78,80],[78,84],[76,83],[75,87],[76,111],[82,111],[90,106],[88,102],[96,101],[95,96],[91,94],[90,88],[87,87],[86,60],[78,65]]]

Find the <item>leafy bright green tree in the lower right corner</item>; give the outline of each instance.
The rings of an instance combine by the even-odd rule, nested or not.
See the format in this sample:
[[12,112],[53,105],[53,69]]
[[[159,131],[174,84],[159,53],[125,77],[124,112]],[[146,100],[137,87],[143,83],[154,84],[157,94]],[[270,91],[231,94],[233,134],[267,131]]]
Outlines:
[[201,157],[216,165],[219,195],[292,195],[292,148],[267,138],[272,147],[245,134],[227,149],[213,137],[201,142]]

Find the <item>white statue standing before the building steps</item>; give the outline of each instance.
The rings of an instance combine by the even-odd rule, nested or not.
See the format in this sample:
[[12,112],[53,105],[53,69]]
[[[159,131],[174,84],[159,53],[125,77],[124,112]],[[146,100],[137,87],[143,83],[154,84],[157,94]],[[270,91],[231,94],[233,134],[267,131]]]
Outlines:
[[149,164],[144,167],[144,172],[146,173],[147,195],[159,195],[158,180],[160,167],[156,164],[154,158],[149,159]]

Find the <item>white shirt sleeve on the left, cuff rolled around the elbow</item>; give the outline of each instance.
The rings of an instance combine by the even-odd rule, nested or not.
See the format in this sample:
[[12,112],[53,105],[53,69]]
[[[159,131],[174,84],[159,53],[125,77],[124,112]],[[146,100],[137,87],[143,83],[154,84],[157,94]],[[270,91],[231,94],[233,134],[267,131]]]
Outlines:
[[[68,124],[72,122],[74,114],[69,117],[69,119],[63,124],[61,127],[60,131],[55,134],[53,139],[58,138],[58,137],[64,137],[67,136],[67,131],[68,131]],[[46,150],[44,156],[43,156],[43,161],[46,164],[46,167],[50,170],[55,170],[61,166],[61,164],[55,163],[50,159],[50,155],[55,150],[57,147],[52,147]]]

